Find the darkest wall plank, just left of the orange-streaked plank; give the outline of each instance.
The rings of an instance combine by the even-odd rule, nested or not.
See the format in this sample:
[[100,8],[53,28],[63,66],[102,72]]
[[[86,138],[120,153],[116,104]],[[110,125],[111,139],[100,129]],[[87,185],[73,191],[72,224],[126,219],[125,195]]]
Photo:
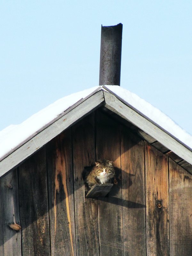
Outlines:
[[22,256],[51,255],[45,148],[19,167],[19,202]]

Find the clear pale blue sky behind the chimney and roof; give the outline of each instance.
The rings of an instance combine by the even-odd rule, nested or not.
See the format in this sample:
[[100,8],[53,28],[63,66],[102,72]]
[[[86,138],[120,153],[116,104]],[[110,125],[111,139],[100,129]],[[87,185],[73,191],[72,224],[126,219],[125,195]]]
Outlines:
[[192,1],[1,1],[0,130],[99,84],[100,31],[123,23],[121,86],[192,134]]

